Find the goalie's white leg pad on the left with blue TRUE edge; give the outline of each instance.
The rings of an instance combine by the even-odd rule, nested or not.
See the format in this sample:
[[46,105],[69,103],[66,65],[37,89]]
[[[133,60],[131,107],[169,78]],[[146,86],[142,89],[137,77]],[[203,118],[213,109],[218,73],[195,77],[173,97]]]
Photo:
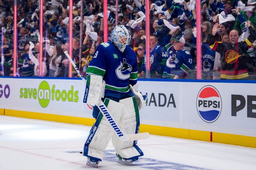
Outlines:
[[[115,122],[118,123],[123,114],[124,105],[110,99],[105,99],[104,104],[109,112],[111,112]],[[92,162],[101,161],[112,135],[113,128],[110,126],[105,116],[100,113],[85,141],[84,156],[89,157]]]

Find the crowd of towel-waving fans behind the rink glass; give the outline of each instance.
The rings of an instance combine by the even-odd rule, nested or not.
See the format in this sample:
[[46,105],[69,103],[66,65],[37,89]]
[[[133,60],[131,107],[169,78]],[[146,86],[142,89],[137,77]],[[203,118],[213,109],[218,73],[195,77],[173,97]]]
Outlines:
[[[103,0],[73,2],[72,56],[79,66],[82,20],[80,71],[85,75],[95,50],[103,42]],[[69,51],[69,2],[44,0],[43,5],[43,76],[68,77],[69,61],[63,51]],[[255,79],[256,0],[201,0],[201,28],[196,28],[195,7],[195,0],[150,0],[150,37],[146,37],[145,1],[119,0],[118,25],[131,33],[129,46],[137,55],[138,78],[145,78],[148,38],[150,78],[196,79],[196,31],[200,31],[202,79]],[[0,0],[1,76],[13,75],[13,16],[13,1]],[[17,0],[17,17],[17,74],[39,76],[38,1]],[[115,17],[116,1],[108,0],[108,41],[116,26]],[[236,54],[231,48],[236,48]],[[73,77],[77,77],[75,71]]]

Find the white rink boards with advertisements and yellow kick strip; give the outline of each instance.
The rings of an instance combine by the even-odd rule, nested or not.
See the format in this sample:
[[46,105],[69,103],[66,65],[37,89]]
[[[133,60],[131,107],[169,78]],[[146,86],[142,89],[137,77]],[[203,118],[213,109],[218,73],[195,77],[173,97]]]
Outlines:
[[[253,81],[188,81],[139,81],[140,132],[256,147]],[[0,78],[0,114],[91,126],[84,88],[78,78]]]

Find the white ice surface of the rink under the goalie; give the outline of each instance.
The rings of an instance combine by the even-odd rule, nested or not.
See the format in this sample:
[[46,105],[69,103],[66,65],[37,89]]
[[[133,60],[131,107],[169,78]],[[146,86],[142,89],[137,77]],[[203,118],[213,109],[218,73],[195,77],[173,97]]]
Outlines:
[[[91,127],[0,115],[0,170],[95,169],[83,151]],[[116,163],[111,142],[98,169],[255,170],[256,149],[150,135],[138,141],[144,156]]]

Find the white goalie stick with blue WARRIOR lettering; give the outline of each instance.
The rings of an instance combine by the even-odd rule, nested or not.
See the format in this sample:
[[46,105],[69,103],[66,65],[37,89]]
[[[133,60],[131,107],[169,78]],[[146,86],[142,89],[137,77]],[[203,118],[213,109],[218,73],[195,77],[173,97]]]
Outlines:
[[[67,51],[64,51],[65,55],[67,55],[69,61],[72,63],[72,65],[75,67],[77,73],[80,75],[81,79],[84,81],[86,84],[86,80],[84,79],[84,76],[82,73],[79,71],[79,69],[76,67],[76,64],[73,62],[73,60],[70,58],[69,54]],[[140,140],[140,139],[147,139],[149,137],[148,132],[144,133],[135,133],[135,134],[125,134],[121,130],[121,128],[118,126],[118,124],[114,121],[113,116],[110,114],[108,111],[107,107],[103,103],[102,100],[100,100],[100,104],[97,105],[97,107],[100,109],[102,115],[105,116],[105,118],[108,120],[109,124],[114,130],[114,133],[119,137],[120,140],[122,141],[134,141],[134,140]]]

